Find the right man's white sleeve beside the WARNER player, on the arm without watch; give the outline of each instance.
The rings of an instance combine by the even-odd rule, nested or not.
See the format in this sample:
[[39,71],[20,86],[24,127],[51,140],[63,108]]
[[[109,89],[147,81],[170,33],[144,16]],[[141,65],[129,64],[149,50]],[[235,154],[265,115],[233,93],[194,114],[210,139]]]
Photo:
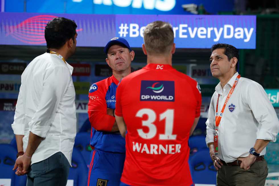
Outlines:
[[208,119],[206,120],[206,145],[213,142],[215,135],[215,110],[214,110],[214,94],[210,101],[210,106],[208,110]]

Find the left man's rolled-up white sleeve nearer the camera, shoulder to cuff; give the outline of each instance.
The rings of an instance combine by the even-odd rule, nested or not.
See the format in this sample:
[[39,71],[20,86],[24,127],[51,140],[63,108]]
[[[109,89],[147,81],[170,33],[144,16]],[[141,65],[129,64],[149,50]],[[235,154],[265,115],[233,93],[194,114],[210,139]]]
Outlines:
[[53,67],[46,70],[38,109],[29,123],[30,131],[33,134],[46,137],[70,78],[71,74],[67,67]]

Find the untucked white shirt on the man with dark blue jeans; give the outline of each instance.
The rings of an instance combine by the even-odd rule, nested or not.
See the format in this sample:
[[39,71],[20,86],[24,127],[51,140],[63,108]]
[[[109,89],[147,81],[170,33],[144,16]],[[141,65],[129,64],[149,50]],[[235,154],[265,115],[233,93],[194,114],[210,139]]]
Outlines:
[[31,164],[62,152],[71,165],[77,125],[72,72],[73,67],[58,55],[44,53],[21,75],[12,128],[16,135],[24,135],[24,152],[30,131],[43,138]]

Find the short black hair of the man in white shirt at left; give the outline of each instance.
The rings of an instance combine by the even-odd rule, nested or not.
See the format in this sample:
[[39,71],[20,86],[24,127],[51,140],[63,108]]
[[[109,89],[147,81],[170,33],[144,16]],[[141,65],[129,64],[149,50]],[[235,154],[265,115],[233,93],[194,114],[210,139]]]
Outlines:
[[56,17],[46,24],[45,38],[48,48],[60,49],[69,39],[75,42],[77,24],[75,21]]

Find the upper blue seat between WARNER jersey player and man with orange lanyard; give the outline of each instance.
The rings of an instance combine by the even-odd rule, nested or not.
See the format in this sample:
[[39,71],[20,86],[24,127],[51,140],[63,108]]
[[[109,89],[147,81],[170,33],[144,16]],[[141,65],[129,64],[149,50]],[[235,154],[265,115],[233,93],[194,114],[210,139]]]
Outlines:
[[199,150],[207,149],[205,136],[192,136],[189,138],[190,156],[189,159]]

